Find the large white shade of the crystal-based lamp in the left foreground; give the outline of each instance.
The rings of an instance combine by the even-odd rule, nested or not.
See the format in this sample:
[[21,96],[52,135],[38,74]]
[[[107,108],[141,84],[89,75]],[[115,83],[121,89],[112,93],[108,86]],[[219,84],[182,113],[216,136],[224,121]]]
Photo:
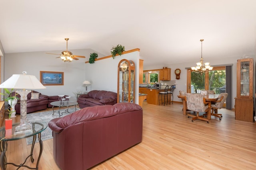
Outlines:
[[36,76],[27,74],[13,74],[5,82],[0,84],[0,88],[43,89],[46,87],[42,85]]

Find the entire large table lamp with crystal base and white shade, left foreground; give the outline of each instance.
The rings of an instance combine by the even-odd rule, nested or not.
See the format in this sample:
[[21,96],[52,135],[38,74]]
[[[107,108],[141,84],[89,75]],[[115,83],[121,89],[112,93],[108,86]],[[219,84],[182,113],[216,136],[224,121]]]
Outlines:
[[15,128],[14,135],[32,131],[32,125],[27,118],[27,95],[31,92],[30,89],[46,88],[36,76],[27,75],[26,71],[22,73],[23,74],[13,74],[5,82],[0,84],[0,88],[22,89],[16,90],[16,93],[20,94],[20,125]]

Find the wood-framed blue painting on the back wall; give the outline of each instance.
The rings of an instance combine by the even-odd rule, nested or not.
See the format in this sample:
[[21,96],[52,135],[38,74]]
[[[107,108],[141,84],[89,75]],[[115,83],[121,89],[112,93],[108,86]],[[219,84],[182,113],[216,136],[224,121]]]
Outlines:
[[40,82],[44,86],[63,86],[64,72],[40,71]]

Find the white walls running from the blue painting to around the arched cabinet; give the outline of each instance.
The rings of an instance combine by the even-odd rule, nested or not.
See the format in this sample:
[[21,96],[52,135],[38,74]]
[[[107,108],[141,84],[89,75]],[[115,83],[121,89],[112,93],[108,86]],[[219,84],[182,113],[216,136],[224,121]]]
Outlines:
[[[58,55],[46,54],[46,51],[40,52],[26,52],[26,53],[9,53],[4,56],[5,70],[4,81],[7,80],[12,74],[22,74],[23,71],[28,72],[30,75],[36,76],[40,80],[40,71],[56,71],[64,72],[64,86],[46,86],[46,89],[38,89],[36,91],[42,94],[53,95],[68,95],[72,96],[72,100],[76,100],[73,92],[85,91],[86,87],[84,80],[91,82],[87,91],[91,90],[108,90],[117,92],[117,68],[118,63],[122,59],[132,60],[136,67],[136,82],[139,74],[139,51],[116,56],[115,59],[108,58],[96,61],[94,64],[85,63],[90,58],[91,49],[70,50],[74,55],[84,55],[86,59],[79,58],[73,60],[72,63],[64,63]],[[47,51],[47,53],[60,54],[61,51]],[[98,53],[98,58],[104,57]],[[138,83],[135,88],[138,94]],[[138,101],[136,95],[135,102]]]

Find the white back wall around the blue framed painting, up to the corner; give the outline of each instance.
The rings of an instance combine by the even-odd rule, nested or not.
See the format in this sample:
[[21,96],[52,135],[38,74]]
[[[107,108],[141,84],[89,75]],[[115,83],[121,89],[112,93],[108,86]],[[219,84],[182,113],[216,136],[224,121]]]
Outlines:
[[[50,51],[50,53],[60,54],[61,51]],[[72,50],[72,53],[89,56],[90,50]],[[36,91],[48,96],[61,94],[74,96],[73,92],[82,88],[82,82],[85,80],[85,59],[79,58],[72,63],[64,63],[56,57],[58,55],[49,55],[46,51],[6,54],[4,80],[12,74],[22,74],[23,71],[36,76],[38,80],[40,80],[40,71],[64,72],[64,86],[46,86],[46,89]]]

